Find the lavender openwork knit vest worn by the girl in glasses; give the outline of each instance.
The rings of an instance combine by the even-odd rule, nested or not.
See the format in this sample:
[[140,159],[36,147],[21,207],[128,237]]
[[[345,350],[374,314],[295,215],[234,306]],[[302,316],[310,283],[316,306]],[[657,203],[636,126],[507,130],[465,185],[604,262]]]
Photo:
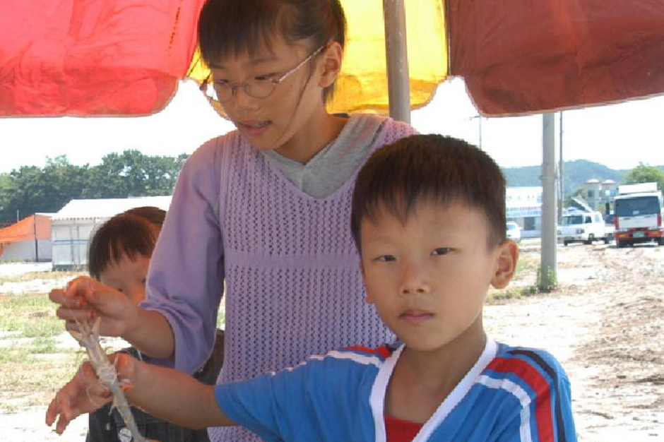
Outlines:
[[[372,150],[414,132],[386,119]],[[220,189],[226,323],[218,383],[278,371],[338,347],[391,342],[393,334],[364,302],[350,234],[357,172],[327,198],[313,198],[245,138],[229,138]],[[210,436],[259,441],[241,428],[210,429]]]

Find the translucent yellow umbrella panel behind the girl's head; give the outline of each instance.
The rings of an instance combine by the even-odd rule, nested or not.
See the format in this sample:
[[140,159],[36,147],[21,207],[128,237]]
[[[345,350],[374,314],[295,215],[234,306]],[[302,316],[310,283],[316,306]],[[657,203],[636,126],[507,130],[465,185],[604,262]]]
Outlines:
[[[389,111],[385,59],[385,28],[382,0],[341,2],[347,30],[343,67],[336,83],[330,112]],[[448,73],[445,14],[440,0],[405,2],[410,71],[410,104],[413,109],[427,104],[437,85]],[[404,36],[405,37],[405,36]],[[209,75],[198,51],[189,78],[199,84]],[[218,112],[220,107],[213,103]]]

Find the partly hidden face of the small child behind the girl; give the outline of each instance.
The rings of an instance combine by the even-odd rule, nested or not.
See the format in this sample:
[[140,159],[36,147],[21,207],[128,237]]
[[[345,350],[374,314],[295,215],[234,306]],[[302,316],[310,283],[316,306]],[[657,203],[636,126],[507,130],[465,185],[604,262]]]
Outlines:
[[146,297],[146,277],[150,258],[138,255],[131,260],[123,255],[119,261],[110,261],[100,273],[99,280],[103,285],[113,287],[122,292],[136,304]]

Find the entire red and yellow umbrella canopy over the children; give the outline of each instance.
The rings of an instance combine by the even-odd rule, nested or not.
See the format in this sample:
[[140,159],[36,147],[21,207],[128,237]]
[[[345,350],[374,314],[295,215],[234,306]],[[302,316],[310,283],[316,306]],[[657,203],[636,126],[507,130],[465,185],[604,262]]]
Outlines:
[[[663,1],[404,3],[413,57],[413,107],[426,104],[437,82],[448,75],[463,76],[473,102],[487,116],[664,92]],[[194,72],[189,66],[202,4],[203,0],[2,0],[0,116],[158,112],[174,94],[177,81]],[[374,22],[382,20],[381,0],[342,4],[349,27],[357,23],[355,11]],[[446,29],[418,32],[430,23]],[[366,38],[375,50],[384,50],[375,27],[364,28],[370,30]],[[355,25],[349,32],[349,60],[354,58],[353,48],[362,48],[357,50],[367,61],[379,58],[367,56],[364,28]],[[420,71],[422,59],[417,57],[427,52],[437,71]],[[449,72],[444,62],[448,59]],[[351,71],[352,66],[359,70]],[[200,79],[198,74],[192,75]],[[362,83],[362,76],[370,80]],[[386,84],[384,71],[349,63],[340,85],[350,84],[344,78],[360,88],[339,88],[338,95],[346,89],[352,97],[336,100],[335,110],[386,111],[384,96],[375,93],[376,85]],[[360,97],[362,84],[372,89],[366,97]]]

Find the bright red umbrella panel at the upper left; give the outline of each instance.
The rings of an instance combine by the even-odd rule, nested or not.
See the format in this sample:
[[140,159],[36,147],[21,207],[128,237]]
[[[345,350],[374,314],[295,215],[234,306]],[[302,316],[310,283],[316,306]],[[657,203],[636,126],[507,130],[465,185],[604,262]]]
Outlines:
[[0,115],[152,114],[196,47],[203,0],[3,0]]

